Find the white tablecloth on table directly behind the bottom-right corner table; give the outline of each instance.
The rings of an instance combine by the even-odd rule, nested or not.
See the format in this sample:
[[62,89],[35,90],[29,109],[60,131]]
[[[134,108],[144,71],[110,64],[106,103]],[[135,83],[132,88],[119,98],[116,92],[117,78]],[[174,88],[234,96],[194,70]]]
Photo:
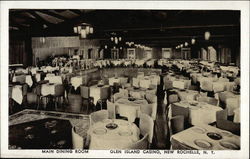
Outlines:
[[[197,106],[192,106],[187,101],[174,103],[174,105],[189,108],[189,122],[192,125],[213,123],[216,121],[216,112],[222,110],[221,107],[213,106],[204,102],[198,102]],[[169,111],[169,116],[170,118],[172,117],[171,110]]]

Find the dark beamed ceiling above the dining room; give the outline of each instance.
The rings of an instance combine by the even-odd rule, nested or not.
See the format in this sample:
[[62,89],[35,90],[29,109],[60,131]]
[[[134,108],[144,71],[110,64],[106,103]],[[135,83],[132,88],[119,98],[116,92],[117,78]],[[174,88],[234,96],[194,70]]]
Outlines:
[[73,36],[82,23],[94,27],[92,39],[110,41],[112,32],[124,42],[150,47],[174,47],[195,37],[204,42],[211,32],[214,43],[239,42],[240,11],[231,10],[82,10],[11,9],[10,33],[34,36]]

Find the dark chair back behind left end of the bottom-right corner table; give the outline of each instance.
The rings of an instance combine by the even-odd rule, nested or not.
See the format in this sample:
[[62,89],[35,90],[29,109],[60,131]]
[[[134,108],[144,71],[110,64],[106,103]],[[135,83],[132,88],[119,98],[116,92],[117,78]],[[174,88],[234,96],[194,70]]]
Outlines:
[[184,130],[184,116],[177,115],[170,119],[170,132],[171,134],[178,133]]

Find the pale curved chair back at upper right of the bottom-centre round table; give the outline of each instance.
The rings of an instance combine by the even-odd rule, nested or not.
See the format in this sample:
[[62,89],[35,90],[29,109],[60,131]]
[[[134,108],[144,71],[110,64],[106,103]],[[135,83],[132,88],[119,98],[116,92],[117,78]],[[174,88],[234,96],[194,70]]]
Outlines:
[[154,121],[153,119],[145,114],[140,114],[140,123],[139,123],[140,132],[142,135],[148,134],[148,142],[151,144],[154,136]]

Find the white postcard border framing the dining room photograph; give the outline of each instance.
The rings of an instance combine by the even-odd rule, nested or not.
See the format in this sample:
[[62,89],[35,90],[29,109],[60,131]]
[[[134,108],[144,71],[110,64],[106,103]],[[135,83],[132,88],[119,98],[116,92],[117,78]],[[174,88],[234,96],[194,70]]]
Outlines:
[[[1,157],[115,157],[115,158],[248,158],[249,155],[249,2],[248,1],[1,1]],[[215,151],[215,155],[120,155],[109,151],[88,154],[42,154],[41,150],[8,150],[8,9],[198,9],[241,10],[241,150]],[[123,153],[124,154],[124,153]]]

